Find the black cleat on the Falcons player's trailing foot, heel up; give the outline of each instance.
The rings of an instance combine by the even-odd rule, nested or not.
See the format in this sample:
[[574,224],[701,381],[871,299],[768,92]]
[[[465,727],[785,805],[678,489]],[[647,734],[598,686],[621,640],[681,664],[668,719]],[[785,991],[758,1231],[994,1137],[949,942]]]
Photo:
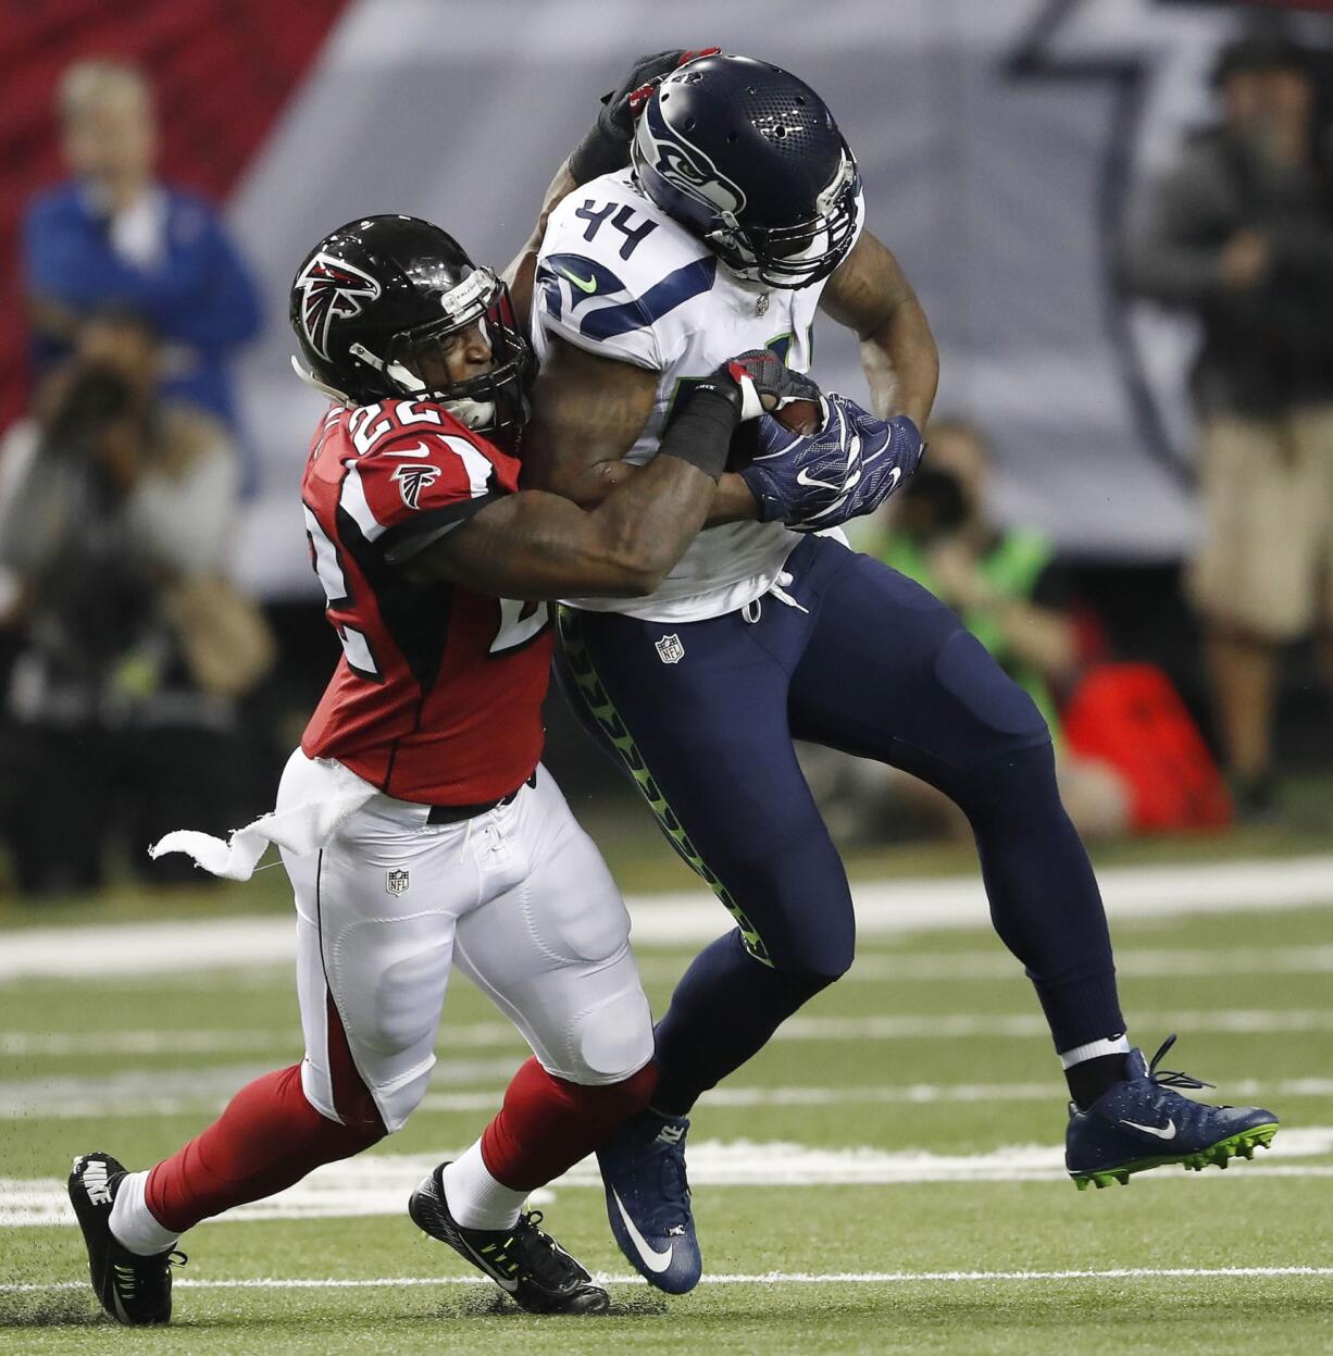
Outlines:
[[[171,1268],[184,1253],[141,1257],[111,1233],[111,1203],[125,1169],[110,1154],[80,1154],[69,1174],[69,1203],[88,1245],[92,1290],[102,1307],[129,1328],[171,1322]],[[179,1261],[178,1261],[179,1258]]]

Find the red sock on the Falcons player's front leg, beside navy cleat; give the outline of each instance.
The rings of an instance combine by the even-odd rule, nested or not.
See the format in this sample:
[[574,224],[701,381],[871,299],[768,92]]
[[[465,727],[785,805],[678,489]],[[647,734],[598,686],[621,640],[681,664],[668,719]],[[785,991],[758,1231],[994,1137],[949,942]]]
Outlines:
[[622,1082],[589,1088],[556,1078],[529,1059],[514,1074],[500,1113],[481,1134],[487,1170],[514,1191],[544,1186],[643,1111],[656,1082],[652,1063]]

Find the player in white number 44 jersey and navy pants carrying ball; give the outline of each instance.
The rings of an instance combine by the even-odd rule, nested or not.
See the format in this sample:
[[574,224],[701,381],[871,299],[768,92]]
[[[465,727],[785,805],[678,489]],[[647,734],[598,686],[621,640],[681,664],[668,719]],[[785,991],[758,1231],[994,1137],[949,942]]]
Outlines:
[[671,1292],[701,1273],[690,1108],[853,957],[846,877],[793,738],[902,767],[968,815],[995,928],[1069,1078],[1079,1186],[1225,1162],[1276,1130],[1269,1112],[1180,1097],[1131,1050],[1097,883],[1028,696],[925,590],[837,536],[803,534],[868,511],[915,469],[934,399],[926,317],[862,214],[856,159],[819,95],[717,53],[645,91],[629,167],[564,199],[537,264],[525,483],[597,502],[654,456],[682,386],[728,354],[766,346],[808,367],[820,309],[861,339],[875,411],[826,401],[808,442],[827,473],[818,458],[774,462],[782,435],[765,420],[656,593],[561,609],[575,709],[738,925],[658,1024],[652,1106],[598,1154],[621,1249]]

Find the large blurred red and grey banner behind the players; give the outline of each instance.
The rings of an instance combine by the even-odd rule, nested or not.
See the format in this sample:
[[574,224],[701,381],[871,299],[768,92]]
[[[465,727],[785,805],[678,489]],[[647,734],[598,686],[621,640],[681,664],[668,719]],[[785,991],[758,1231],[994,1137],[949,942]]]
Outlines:
[[[1191,332],[1120,301],[1113,264],[1143,176],[1210,115],[1207,76],[1245,7],[30,0],[5,8],[8,46],[22,57],[0,119],[11,274],[18,206],[57,163],[52,88],[80,54],[141,61],[157,87],[165,172],[226,199],[268,321],[240,372],[258,461],[241,574],[264,597],[316,593],[293,494],[319,412],[287,366],[282,311],[294,262],[357,213],[399,210],[443,224],[477,256],[503,263],[597,96],[635,53],[681,42],[766,57],[829,99],[861,160],[869,220],[903,260],[940,339],[941,408],[993,428],[1006,517],[1085,557],[1161,560],[1193,541],[1182,400]],[[1319,41],[1322,30],[1310,37]],[[860,391],[850,340],[833,327],[824,339],[820,380]],[[23,389],[14,311],[0,343],[14,412]]]

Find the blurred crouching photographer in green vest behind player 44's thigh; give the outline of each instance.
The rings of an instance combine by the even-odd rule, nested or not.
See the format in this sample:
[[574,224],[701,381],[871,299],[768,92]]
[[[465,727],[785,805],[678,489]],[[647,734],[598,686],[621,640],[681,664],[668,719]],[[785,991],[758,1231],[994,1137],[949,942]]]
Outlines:
[[[1069,586],[1039,532],[999,527],[989,507],[982,435],[957,420],[932,420],[930,453],[894,499],[877,555],[963,618],[1001,667],[1037,704],[1056,750],[1060,799],[1085,838],[1123,833],[1128,796],[1107,763],[1074,755],[1060,738],[1058,696],[1079,674]],[[867,542],[867,549],[875,545]],[[919,810],[953,820],[953,807],[923,782],[898,777]],[[960,824],[966,830],[966,824]]]

